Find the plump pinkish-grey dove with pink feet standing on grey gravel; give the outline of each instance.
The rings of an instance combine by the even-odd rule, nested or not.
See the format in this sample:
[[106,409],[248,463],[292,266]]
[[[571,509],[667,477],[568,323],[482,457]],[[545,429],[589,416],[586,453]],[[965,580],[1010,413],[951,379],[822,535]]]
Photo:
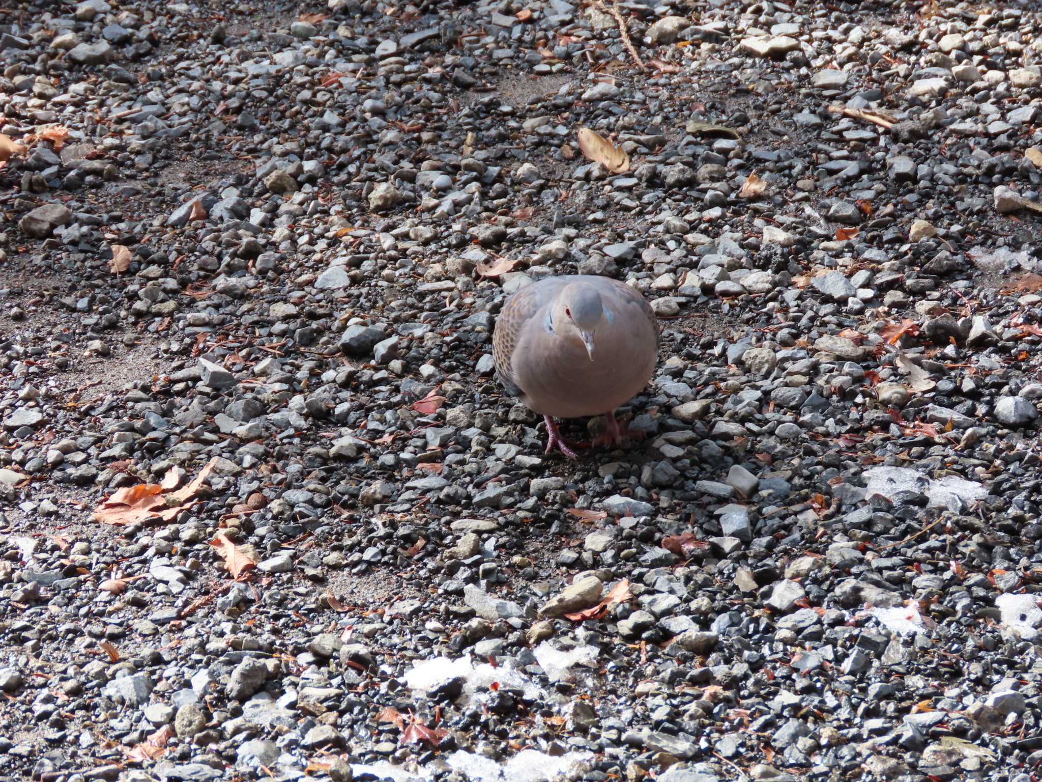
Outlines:
[[547,454],[575,458],[554,418],[603,414],[595,445],[643,436],[615,418],[647,385],[659,355],[654,313],[639,291],[609,277],[546,277],[506,300],[492,345],[503,388],[546,420]]

